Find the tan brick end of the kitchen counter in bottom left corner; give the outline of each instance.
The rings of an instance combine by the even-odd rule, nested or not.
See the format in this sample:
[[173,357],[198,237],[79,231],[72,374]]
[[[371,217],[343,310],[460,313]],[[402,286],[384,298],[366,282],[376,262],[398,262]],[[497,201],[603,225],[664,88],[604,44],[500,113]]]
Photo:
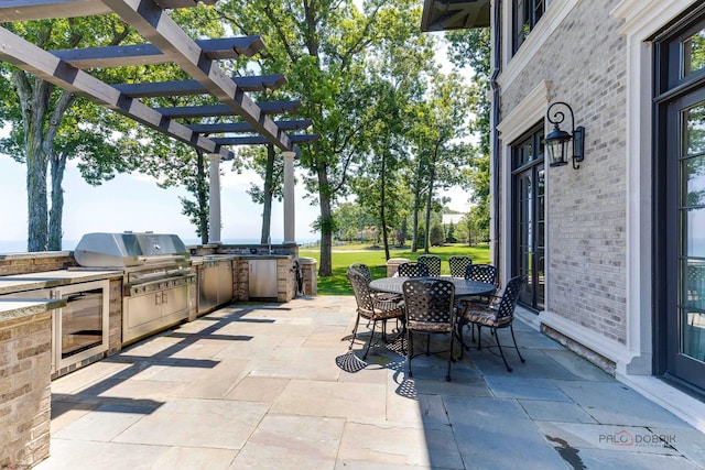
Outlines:
[[0,468],[48,457],[52,313],[0,323]]

